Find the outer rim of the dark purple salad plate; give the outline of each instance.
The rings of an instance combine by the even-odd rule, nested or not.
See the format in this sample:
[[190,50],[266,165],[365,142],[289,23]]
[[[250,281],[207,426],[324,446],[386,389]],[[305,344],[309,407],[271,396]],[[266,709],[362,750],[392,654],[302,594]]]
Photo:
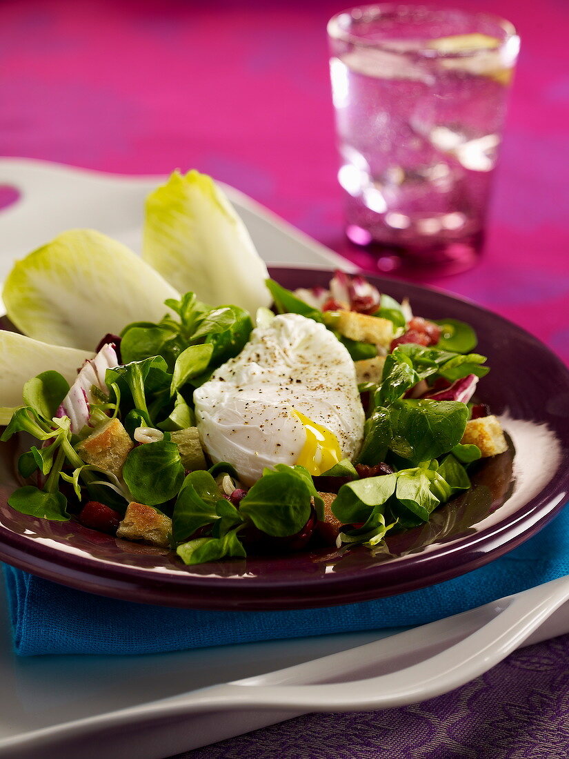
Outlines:
[[[299,270],[297,266],[272,266],[270,273],[278,279],[279,272]],[[322,276],[322,269],[302,269],[303,273],[313,272]],[[332,273],[332,269],[329,270]],[[494,323],[504,323],[508,330],[514,330],[524,341],[547,351],[567,382],[569,389],[569,369],[545,343],[531,335],[523,327],[501,317],[501,315],[479,306],[468,298],[462,298],[438,288],[418,285],[396,278],[369,275],[373,282],[381,287],[405,288],[411,300],[414,293],[431,293],[443,298],[449,304],[459,301],[476,312],[490,316]],[[185,575],[183,572],[165,574],[152,569],[140,570],[136,565],[117,565],[102,562],[90,556],[61,552],[53,546],[35,543],[25,535],[14,533],[0,525],[0,559],[17,568],[32,572],[50,581],[74,587],[80,591],[116,598],[119,600],[149,603],[159,606],[178,606],[182,608],[209,610],[277,610],[303,609],[325,606],[339,606],[347,603],[360,603],[376,600],[380,597],[402,594],[410,590],[438,584],[442,581],[464,575],[479,568],[528,540],[542,527],[561,512],[567,501],[569,491],[569,470],[560,467],[542,490],[515,512],[513,521],[502,520],[489,525],[474,534],[458,538],[451,543],[442,543],[421,556],[413,554],[413,562],[381,562],[366,567],[358,573],[357,590],[347,591],[346,585],[354,583],[353,575],[347,577],[342,573],[307,577],[301,587],[294,585],[291,593],[291,581],[287,579],[254,577],[244,582],[239,577],[200,577]],[[556,481],[552,486],[552,482]],[[555,493],[549,493],[552,490]],[[33,553],[27,549],[33,546]],[[470,548],[470,553],[468,550]],[[55,552],[55,560],[53,554]],[[452,557],[459,553],[461,563],[459,571]],[[428,581],[417,581],[417,567],[427,575]],[[67,570],[62,574],[63,570]],[[378,573],[382,584],[382,593],[377,593]],[[211,591],[217,591],[211,594]],[[270,591],[270,598],[267,598]]]

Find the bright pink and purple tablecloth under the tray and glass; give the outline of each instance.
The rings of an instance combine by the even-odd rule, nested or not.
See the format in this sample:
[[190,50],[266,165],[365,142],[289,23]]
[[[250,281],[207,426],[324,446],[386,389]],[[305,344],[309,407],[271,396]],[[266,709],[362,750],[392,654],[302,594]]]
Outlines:
[[[325,22],[342,5],[5,0],[0,154],[122,173],[200,168],[373,270],[373,258],[344,241],[335,181]],[[569,361],[569,4],[460,5],[509,17],[523,46],[486,254],[470,272],[431,283],[520,323]],[[302,718],[192,755],[561,759],[567,661],[569,641],[542,644],[456,697],[388,718]],[[457,713],[474,703],[484,729]]]

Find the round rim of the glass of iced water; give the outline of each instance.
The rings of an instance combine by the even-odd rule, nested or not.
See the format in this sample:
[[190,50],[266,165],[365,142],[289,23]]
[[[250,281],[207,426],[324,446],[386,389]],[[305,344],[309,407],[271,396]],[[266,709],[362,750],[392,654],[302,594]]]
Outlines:
[[[486,19],[491,20],[493,23],[497,24],[498,27],[500,27],[504,33],[505,36],[503,39],[499,40],[498,45],[493,46],[476,46],[472,48],[464,48],[462,50],[452,50],[448,49],[445,50],[444,48],[426,48],[426,47],[419,47],[419,48],[413,48],[413,49],[404,49],[401,47],[401,41],[396,39],[390,39],[389,37],[385,39],[365,39],[363,37],[357,36],[357,34],[351,33],[351,31],[346,30],[341,27],[340,19],[341,17],[350,17],[352,21],[357,21],[359,18],[354,14],[354,11],[360,12],[360,17],[365,13],[366,11],[370,14],[373,11],[378,11],[377,15],[381,15],[382,13],[386,13],[388,11],[398,11],[402,8],[406,8],[409,11],[458,11],[460,13],[464,13],[465,16],[471,17],[471,18],[479,18],[479,19]],[[462,11],[460,8],[442,8],[438,5],[407,5],[406,3],[398,3],[398,2],[391,2],[391,3],[371,3],[366,5],[356,5],[351,8],[345,8],[344,11],[339,11],[338,13],[334,14],[332,18],[329,20],[328,25],[326,27],[326,30],[328,32],[328,36],[330,39],[338,40],[340,42],[345,43],[351,43],[354,46],[359,47],[366,47],[366,48],[373,48],[377,50],[385,50],[389,52],[396,52],[399,55],[406,55],[407,53],[412,52],[414,55],[422,55],[424,58],[468,58],[473,55],[480,55],[480,53],[488,53],[488,52],[496,52],[497,50],[502,49],[504,46],[508,45],[509,41],[511,39],[519,39],[519,36],[517,34],[516,27],[514,27],[514,24],[511,23],[511,21],[508,21],[505,18],[502,18],[501,16],[497,16],[492,13],[486,13],[485,11]],[[497,38],[496,38],[497,39]],[[394,45],[393,43],[400,43],[398,45]]]

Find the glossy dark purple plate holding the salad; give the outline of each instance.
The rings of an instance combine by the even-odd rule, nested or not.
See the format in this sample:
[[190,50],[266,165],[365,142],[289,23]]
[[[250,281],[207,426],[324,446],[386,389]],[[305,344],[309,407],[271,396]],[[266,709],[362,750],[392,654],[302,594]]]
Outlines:
[[[331,272],[275,268],[288,288],[327,285]],[[375,554],[315,550],[186,567],[166,550],[118,540],[71,522],[36,519],[8,506],[17,487],[15,450],[0,451],[0,559],[83,591],[199,609],[334,606],[404,593],[475,569],[542,528],[569,492],[569,371],[536,338],[450,295],[369,277],[410,298],[414,313],[455,318],[478,333],[492,371],[479,395],[502,419],[508,452],[479,465],[468,493],[423,528],[392,537]]]

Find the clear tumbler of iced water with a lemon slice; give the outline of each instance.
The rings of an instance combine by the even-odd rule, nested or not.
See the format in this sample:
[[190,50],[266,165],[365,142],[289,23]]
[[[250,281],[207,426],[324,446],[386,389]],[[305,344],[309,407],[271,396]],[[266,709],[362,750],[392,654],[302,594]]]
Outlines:
[[489,14],[366,5],[328,25],[348,238],[439,269],[483,244],[520,39]]

